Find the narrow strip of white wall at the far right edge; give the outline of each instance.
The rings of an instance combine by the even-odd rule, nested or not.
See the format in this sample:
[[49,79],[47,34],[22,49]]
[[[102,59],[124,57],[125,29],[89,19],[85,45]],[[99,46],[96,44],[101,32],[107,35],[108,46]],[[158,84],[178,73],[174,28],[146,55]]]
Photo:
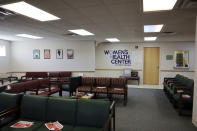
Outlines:
[[[195,56],[197,57],[197,19],[196,19],[196,42]],[[195,79],[194,79],[194,103],[193,103],[193,123],[197,127],[197,60],[195,60]]]

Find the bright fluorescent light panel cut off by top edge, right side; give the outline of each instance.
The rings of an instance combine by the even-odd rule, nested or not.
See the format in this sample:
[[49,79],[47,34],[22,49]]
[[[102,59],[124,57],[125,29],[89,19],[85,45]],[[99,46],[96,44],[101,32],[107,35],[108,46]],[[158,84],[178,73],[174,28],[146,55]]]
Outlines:
[[144,12],[172,10],[177,0],[143,0]]

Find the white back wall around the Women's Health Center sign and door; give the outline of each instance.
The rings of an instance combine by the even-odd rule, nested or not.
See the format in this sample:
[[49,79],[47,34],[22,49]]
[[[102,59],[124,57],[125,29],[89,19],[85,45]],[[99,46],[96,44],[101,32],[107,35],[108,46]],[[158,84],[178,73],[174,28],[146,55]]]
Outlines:
[[[135,46],[138,45],[138,49]],[[113,69],[123,69],[132,68],[133,70],[139,71],[139,76],[141,79],[141,84],[143,83],[143,55],[144,47],[160,47],[160,70],[173,70],[174,61],[166,60],[166,55],[174,55],[176,50],[189,50],[189,65],[190,70],[194,70],[194,43],[191,42],[173,42],[173,43],[119,43],[119,44],[100,44],[96,47],[96,76],[108,76],[108,77],[119,77],[123,74],[121,70]],[[131,66],[116,66],[112,65],[108,56],[104,54],[104,50],[110,49],[128,49],[131,55]],[[102,69],[112,69],[102,70]],[[160,71],[160,84],[163,82],[163,78],[174,77],[177,73],[188,76],[189,78],[194,78],[193,72],[161,72]]]

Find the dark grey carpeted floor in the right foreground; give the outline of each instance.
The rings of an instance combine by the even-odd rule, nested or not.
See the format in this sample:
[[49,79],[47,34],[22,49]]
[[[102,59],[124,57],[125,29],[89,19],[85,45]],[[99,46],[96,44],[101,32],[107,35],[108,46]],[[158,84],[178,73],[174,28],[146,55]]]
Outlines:
[[129,88],[128,104],[117,104],[116,131],[197,131],[179,116],[163,90]]

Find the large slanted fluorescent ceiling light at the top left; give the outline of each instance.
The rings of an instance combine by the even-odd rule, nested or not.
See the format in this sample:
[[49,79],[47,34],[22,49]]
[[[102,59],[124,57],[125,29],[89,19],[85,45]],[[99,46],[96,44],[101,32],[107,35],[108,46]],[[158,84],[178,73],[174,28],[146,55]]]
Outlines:
[[33,19],[39,20],[39,21],[51,21],[51,20],[58,20],[60,18],[49,14],[37,7],[34,7],[24,1],[2,5],[0,6],[2,8],[11,10],[13,12],[19,13],[21,15],[25,15],[27,17],[31,17]]

